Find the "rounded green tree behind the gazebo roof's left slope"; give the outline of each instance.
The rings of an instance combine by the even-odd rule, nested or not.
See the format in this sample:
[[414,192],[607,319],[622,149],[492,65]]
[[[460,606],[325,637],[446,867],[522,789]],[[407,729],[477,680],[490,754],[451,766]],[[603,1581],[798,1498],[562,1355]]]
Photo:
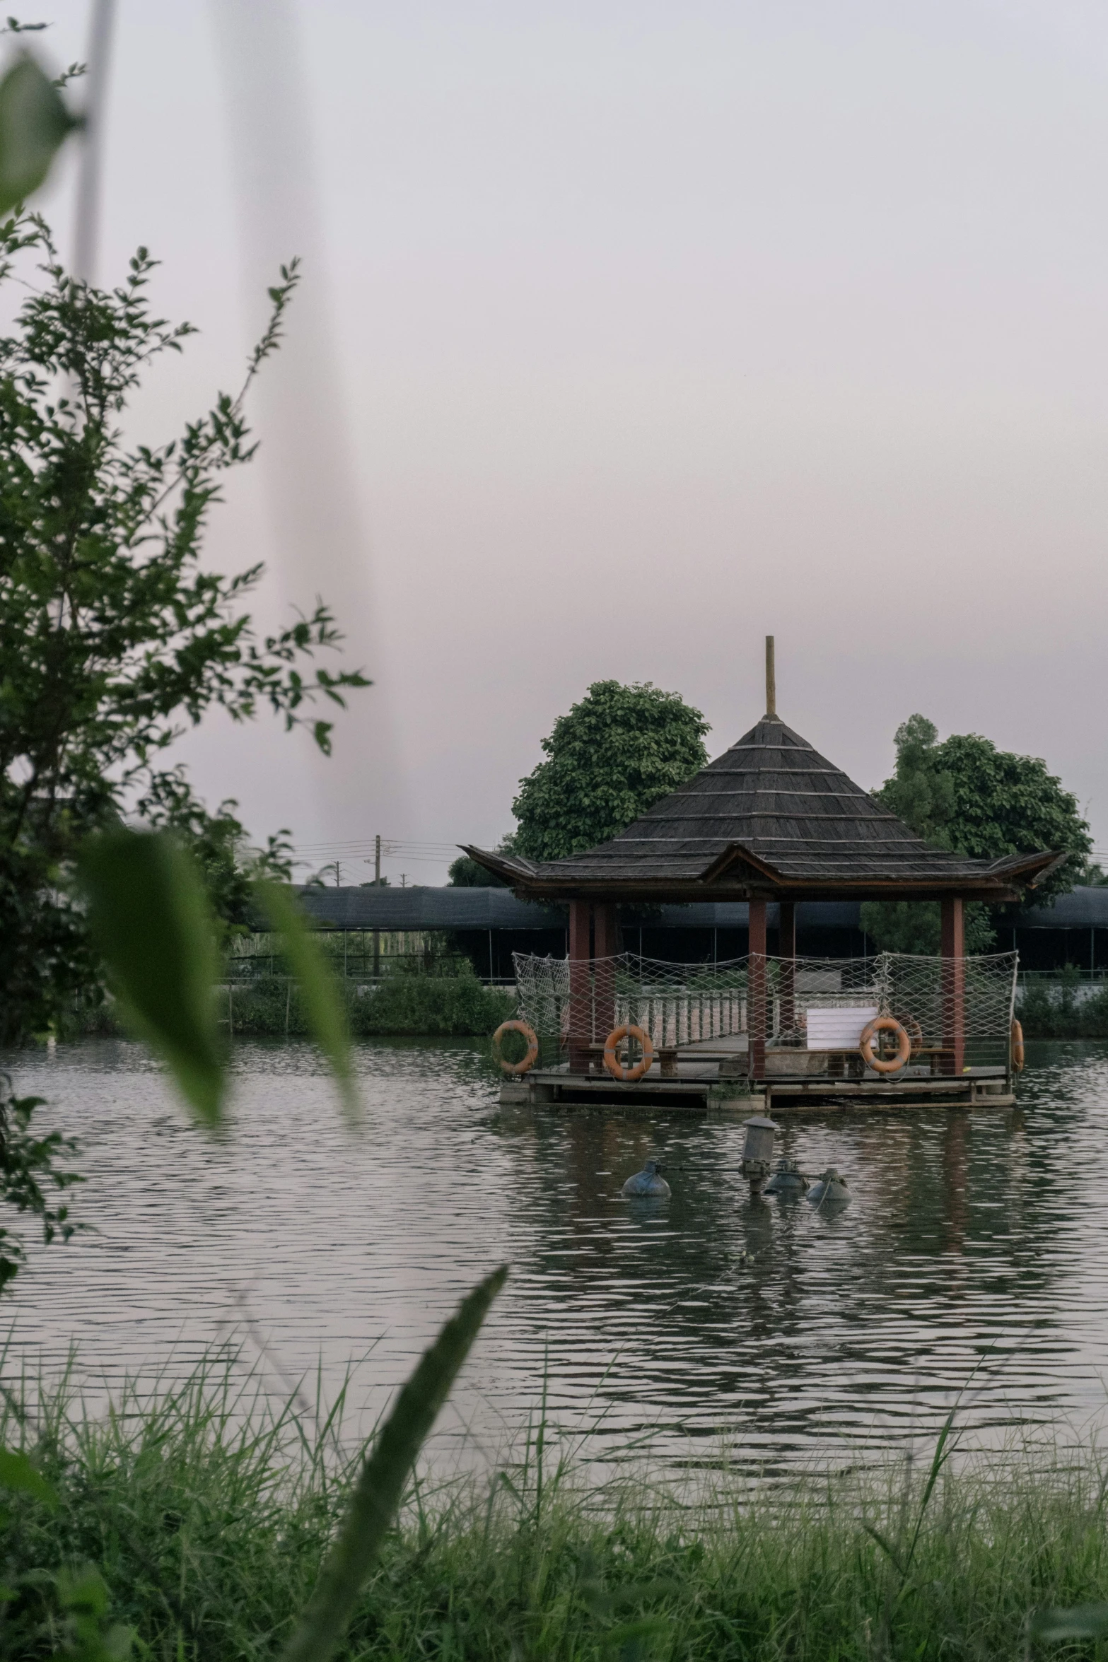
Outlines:
[[708,723],[678,693],[595,681],[542,741],[512,803],[515,853],[561,859],[618,836],[708,761]]

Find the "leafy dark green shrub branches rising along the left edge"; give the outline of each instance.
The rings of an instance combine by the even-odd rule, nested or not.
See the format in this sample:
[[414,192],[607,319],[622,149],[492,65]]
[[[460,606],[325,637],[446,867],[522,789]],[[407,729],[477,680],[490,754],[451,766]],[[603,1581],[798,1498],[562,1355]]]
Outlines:
[[[121,288],[93,289],[66,276],[40,219],[0,226],[0,288],[25,296],[0,339],[0,1044],[98,982],[70,881],[83,838],[128,811],[186,833],[203,821],[166,761],[183,730],[216,706],[246,721],[269,705],[326,751],[312,706],[365,685],[311,666],[341,638],[326,607],[257,638],[243,602],[261,567],[201,563],[223,475],[252,455],[244,397],[279,344],[294,266],[239,394],[179,439],[126,447],[141,374],[191,334],[151,312],[151,269],[140,249]],[[204,836],[226,849],[228,831]]]

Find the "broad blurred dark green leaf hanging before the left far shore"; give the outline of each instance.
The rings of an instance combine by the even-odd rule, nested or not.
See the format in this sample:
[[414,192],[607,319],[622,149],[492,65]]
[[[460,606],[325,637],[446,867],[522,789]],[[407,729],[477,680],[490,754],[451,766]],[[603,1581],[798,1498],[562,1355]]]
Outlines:
[[88,922],[128,1024],[209,1125],[223,1109],[216,926],[194,863],[164,831],[108,831],[78,861]]

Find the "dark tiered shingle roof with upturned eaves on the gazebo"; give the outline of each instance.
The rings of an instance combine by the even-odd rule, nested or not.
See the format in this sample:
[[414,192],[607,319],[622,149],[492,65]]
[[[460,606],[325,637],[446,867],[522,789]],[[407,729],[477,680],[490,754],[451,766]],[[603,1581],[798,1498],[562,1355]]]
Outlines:
[[467,853],[520,894],[566,899],[1007,901],[1057,863],[932,848],[777,716],[598,848],[545,863]]

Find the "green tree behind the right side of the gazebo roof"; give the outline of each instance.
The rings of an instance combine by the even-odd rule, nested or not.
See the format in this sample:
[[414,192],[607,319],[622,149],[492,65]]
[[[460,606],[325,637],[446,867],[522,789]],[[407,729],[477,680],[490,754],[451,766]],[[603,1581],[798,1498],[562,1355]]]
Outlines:
[[[939,730],[914,715],[897,728],[897,768],[874,796],[935,848],[977,859],[1068,853],[1070,859],[1035,889],[1032,904],[1065,894],[1085,874],[1093,846],[1076,798],[1037,756],[1017,756],[978,733]],[[995,946],[1002,909],[978,902],[965,909],[970,952]],[[939,951],[937,901],[867,901],[862,929],[889,952]]]

